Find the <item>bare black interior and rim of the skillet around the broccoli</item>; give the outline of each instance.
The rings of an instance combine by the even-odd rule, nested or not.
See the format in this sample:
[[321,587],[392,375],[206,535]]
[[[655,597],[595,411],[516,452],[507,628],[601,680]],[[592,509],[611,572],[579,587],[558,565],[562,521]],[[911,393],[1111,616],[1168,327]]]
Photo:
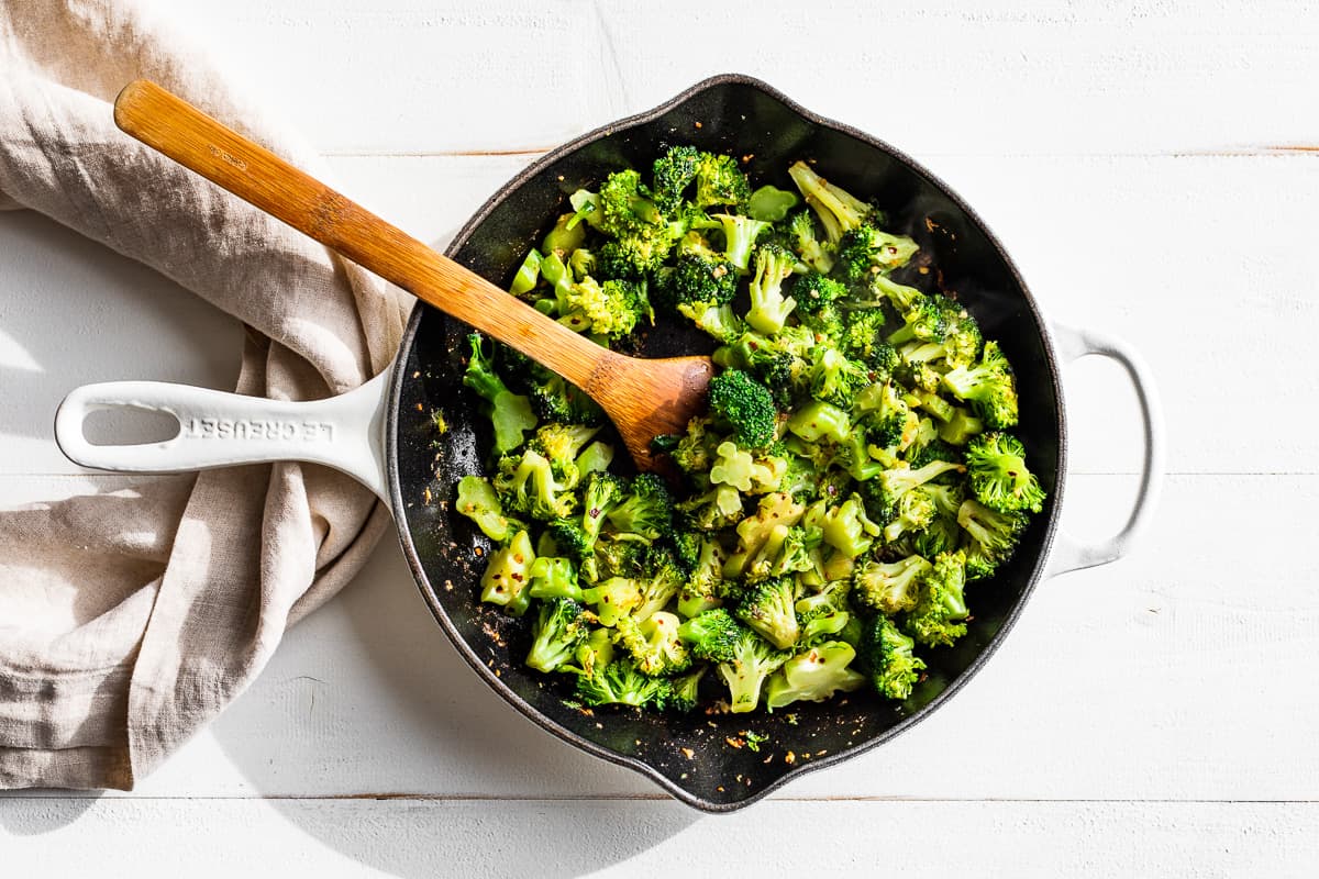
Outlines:
[[[1050,493],[1016,557],[988,582],[968,590],[975,619],[958,646],[927,651],[930,671],[898,705],[856,693],[845,701],[798,704],[772,716],[648,714],[630,708],[586,713],[565,704],[563,681],[521,664],[528,621],[513,621],[477,601],[488,542],[452,514],[458,480],[483,472],[484,419],[463,389],[467,328],[418,307],[396,373],[389,428],[394,505],[404,550],[437,619],[468,663],[518,710],[545,729],[599,756],[637,770],[692,807],[725,812],[747,805],[790,776],[855,755],[892,738],[960,687],[1006,634],[1042,569],[1057,519],[1063,474],[1063,415],[1057,368],[1034,302],[997,241],[940,182],[892,148],[822,120],[764,83],[744,76],[706,80],[656,111],[623,120],[550,153],[505,184],[458,235],[450,256],[506,285],[526,250],[537,246],[567,195],[595,187],[609,171],[648,169],[665,145],[745,157],[757,182],[791,188],[794,159],[852,192],[890,208],[889,223],[911,235],[938,273],[917,278],[942,285],[967,304],[987,337],[1000,340],[1014,364],[1022,398],[1020,436]],[[708,351],[699,335],[652,333],[644,356]],[[438,436],[431,414],[450,431]],[[621,448],[621,447],[620,447]],[[758,750],[735,747],[751,730],[768,739]],[[690,754],[690,756],[689,756]],[[787,758],[791,754],[793,758]],[[876,791],[882,793],[882,791]]]

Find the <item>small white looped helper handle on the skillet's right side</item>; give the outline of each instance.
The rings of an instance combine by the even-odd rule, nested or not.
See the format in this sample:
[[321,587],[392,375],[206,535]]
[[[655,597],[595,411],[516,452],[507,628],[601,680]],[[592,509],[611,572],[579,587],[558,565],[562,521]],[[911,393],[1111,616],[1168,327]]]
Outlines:
[[1158,496],[1163,488],[1163,455],[1166,435],[1163,428],[1163,407],[1159,403],[1158,389],[1150,374],[1149,365],[1140,352],[1121,339],[1093,329],[1068,327],[1051,323],[1050,332],[1063,362],[1096,354],[1116,360],[1126,369],[1141,403],[1142,428],[1145,432],[1145,463],[1141,469],[1141,485],[1136,493],[1136,503],[1126,525],[1112,538],[1099,543],[1083,543],[1066,531],[1059,530],[1054,538],[1053,552],[1045,577],[1057,577],[1068,571],[1093,568],[1095,565],[1117,561],[1130,551],[1141,534],[1154,518]]

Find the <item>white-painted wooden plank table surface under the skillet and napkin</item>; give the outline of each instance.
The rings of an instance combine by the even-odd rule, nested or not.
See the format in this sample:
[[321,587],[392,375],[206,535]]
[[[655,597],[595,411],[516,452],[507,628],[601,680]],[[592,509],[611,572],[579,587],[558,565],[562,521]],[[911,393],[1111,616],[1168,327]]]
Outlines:
[[[712,818],[505,705],[388,540],[137,791],[0,799],[4,875],[1315,875],[1319,8],[624,5],[168,14],[260,83],[350,194],[437,242],[546,148],[712,72],[890,140],[980,211],[1049,315],[1126,337],[1159,374],[1170,476],[1148,543],[1045,584],[911,733]],[[149,270],[0,215],[0,502],[113,485],[51,441],[67,390],[227,389],[239,337]],[[1067,382],[1063,519],[1101,536],[1136,484],[1134,395],[1105,362]]]

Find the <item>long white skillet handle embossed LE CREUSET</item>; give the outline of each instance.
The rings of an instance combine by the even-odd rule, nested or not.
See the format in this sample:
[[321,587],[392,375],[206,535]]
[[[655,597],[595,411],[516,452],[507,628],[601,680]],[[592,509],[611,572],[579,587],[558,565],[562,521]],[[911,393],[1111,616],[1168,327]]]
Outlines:
[[[244,397],[168,382],[125,381],[75,389],[55,412],[55,443],[75,464],[129,473],[179,473],[268,461],[326,464],[389,499],[384,423],[386,369],[347,394],[311,402]],[[96,445],[83,422],[103,409],[173,415],[161,443]]]

